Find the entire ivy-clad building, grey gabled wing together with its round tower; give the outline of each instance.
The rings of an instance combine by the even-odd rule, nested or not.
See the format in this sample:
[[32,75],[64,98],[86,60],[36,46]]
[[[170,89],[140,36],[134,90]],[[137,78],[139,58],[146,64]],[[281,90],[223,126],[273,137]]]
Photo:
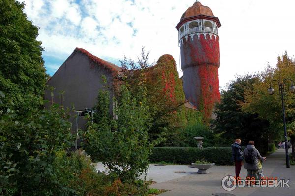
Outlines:
[[[161,56],[155,66],[147,69],[148,85],[155,86],[160,98],[167,100],[167,103],[183,103],[183,108],[186,108],[176,114],[175,122],[179,126],[187,123],[188,115],[192,113],[187,111],[202,112],[203,122],[208,122],[214,104],[220,100],[220,26],[219,19],[211,9],[196,1],[183,13],[176,26],[179,31],[182,82],[171,55]],[[45,99],[64,107],[75,107],[71,112],[72,130],[75,132],[77,128],[83,129],[86,123],[84,118],[75,117],[87,112],[91,115],[98,91],[104,86],[110,87],[112,99],[112,88],[118,86],[121,73],[119,66],[76,48],[47,82],[54,89],[46,90]],[[103,75],[106,76],[106,84],[102,82]]]

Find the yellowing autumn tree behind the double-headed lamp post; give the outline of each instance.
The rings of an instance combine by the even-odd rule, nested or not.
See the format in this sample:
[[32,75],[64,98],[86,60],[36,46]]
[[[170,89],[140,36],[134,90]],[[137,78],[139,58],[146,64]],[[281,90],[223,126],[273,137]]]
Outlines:
[[[282,102],[279,93],[278,83],[274,81],[272,87],[275,89],[274,95],[269,95],[267,89],[272,80],[280,83],[284,79],[293,80],[294,84],[295,60],[285,52],[282,57],[278,56],[276,67],[267,66],[261,74],[261,80],[253,85],[253,89],[245,90],[245,103],[242,104],[243,110],[250,113],[257,113],[260,119],[267,120],[270,123],[273,139],[283,135],[283,116]],[[294,93],[288,92],[291,86],[289,80],[285,81],[284,105],[286,112],[286,124],[288,134],[294,134]],[[278,135],[279,133],[279,135]]]

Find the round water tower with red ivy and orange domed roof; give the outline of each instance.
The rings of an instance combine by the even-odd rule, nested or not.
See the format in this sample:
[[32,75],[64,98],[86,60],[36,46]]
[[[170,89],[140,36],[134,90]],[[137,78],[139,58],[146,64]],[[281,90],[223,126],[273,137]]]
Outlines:
[[181,16],[179,31],[180,63],[185,97],[207,121],[214,104],[220,101],[218,68],[221,26],[212,10],[196,1]]

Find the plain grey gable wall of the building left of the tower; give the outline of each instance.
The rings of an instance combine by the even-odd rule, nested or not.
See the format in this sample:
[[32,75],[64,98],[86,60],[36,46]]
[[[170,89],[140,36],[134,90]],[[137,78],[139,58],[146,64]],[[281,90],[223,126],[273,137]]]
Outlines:
[[[106,76],[107,84],[102,83],[102,75]],[[83,110],[93,108],[96,104],[98,91],[103,89],[105,85],[111,86],[112,82],[113,77],[106,68],[95,64],[88,56],[75,50],[51,77],[47,85],[55,88],[53,102],[61,105],[59,92],[64,91],[62,105],[68,108],[74,105],[75,110]],[[110,94],[112,96],[112,93]],[[52,100],[49,89],[45,91],[45,99]],[[71,112],[72,133],[76,132],[76,115],[76,112]],[[85,129],[86,122],[84,117],[79,117],[78,128]]]

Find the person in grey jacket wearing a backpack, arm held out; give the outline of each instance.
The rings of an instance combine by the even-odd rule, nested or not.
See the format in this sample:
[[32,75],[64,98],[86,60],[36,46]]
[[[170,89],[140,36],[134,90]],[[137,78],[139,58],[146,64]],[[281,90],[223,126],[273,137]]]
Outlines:
[[266,161],[265,157],[262,157],[258,150],[254,146],[254,141],[249,141],[249,145],[244,150],[244,159],[245,159],[245,164],[244,168],[247,169],[247,178],[252,178],[254,177],[255,180],[258,180],[258,160],[261,161]]

